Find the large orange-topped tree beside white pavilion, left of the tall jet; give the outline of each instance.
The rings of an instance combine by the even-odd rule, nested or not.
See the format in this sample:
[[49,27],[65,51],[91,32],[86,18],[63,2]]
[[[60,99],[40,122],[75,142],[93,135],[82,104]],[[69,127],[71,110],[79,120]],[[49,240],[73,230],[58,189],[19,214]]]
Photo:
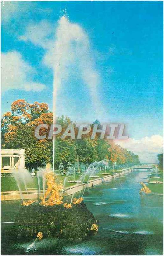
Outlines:
[[34,131],[37,125],[52,124],[52,120],[53,115],[46,103],[29,104],[23,99],[14,101],[11,112],[5,113],[1,120],[2,148],[25,148],[28,167],[50,162],[52,143],[48,139],[37,140]]

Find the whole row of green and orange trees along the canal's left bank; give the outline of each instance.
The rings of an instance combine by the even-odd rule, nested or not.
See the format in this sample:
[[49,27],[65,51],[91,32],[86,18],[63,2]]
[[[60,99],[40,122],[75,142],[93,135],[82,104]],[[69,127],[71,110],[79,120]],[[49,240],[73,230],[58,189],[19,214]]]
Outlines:
[[[11,105],[11,112],[3,115],[1,120],[1,145],[2,148],[25,148],[25,165],[41,167],[46,163],[53,163],[52,139],[38,140],[35,137],[35,128],[39,124],[52,124],[53,113],[49,111],[46,103],[34,102],[29,104],[25,100],[16,100]],[[68,124],[73,124],[67,116],[56,117],[56,123],[62,126],[62,132]],[[101,128],[98,120],[94,122]],[[69,165],[80,163],[80,171],[86,169],[88,164],[94,161],[107,159],[118,166],[139,164],[139,157],[131,151],[121,148],[113,140],[100,139],[97,133],[95,139],[91,139],[93,124],[90,133],[83,135],[80,140],[69,137],[61,139],[61,134],[55,138],[55,169],[59,169],[62,162],[64,169]],[[41,129],[40,135],[48,133],[49,130]],[[78,128],[75,128],[77,135]],[[79,166],[79,164],[78,164]]]

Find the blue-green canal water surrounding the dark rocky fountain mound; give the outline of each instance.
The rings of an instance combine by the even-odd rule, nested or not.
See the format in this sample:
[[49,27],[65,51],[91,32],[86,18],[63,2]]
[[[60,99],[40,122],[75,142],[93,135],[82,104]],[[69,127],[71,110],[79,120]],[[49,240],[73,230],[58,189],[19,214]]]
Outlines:
[[[149,173],[137,170],[86,189],[84,202],[98,220],[99,230],[85,241],[43,239],[31,247],[32,241],[6,245],[3,241],[1,254],[163,255],[163,195],[139,194],[139,182],[146,183]],[[18,205],[20,201],[2,202],[1,221],[12,222]]]

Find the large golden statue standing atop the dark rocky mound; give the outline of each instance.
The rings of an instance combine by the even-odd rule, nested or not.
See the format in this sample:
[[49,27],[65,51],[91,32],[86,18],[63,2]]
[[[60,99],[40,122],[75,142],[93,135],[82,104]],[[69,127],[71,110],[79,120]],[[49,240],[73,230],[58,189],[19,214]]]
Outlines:
[[[42,202],[40,204],[44,206],[53,206],[54,204],[62,204],[63,197],[59,195],[59,191],[63,189],[61,181],[59,184],[55,182],[55,174],[50,170],[49,172],[44,173],[44,178],[47,180],[47,191],[44,197],[41,198]],[[45,198],[49,195],[48,200],[45,201]]]

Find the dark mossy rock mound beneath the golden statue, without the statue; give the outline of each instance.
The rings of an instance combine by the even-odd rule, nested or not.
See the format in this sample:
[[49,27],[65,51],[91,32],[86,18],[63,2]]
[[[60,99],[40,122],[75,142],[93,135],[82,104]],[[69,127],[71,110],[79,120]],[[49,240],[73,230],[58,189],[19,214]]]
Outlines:
[[96,220],[83,202],[72,204],[71,208],[69,204],[45,207],[34,202],[21,206],[12,235],[36,238],[38,232],[42,232],[43,238],[81,241],[92,232],[93,224],[96,224]]

